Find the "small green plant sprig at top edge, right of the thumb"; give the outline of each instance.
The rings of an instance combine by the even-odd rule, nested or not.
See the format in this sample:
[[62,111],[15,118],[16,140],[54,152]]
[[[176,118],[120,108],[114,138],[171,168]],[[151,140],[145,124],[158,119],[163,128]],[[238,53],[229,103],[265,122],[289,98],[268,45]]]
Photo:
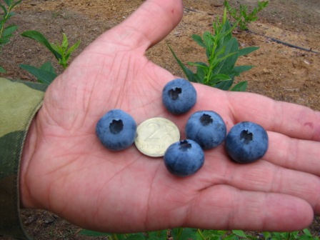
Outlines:
[[248,10],[248,6],[241,5],[240,9],[234,9],[230,6],[229,1],[224,1],[224,6],[226,6],[226,11],[228,11],[229,15],[232,16],[236,20],[241,30],[247,30],[248,24],[252,21],[256,21],[258,19],[257,14],[262,9],[268,6],[269,1],[257,1],[258,6],[255,7],[251,12]]

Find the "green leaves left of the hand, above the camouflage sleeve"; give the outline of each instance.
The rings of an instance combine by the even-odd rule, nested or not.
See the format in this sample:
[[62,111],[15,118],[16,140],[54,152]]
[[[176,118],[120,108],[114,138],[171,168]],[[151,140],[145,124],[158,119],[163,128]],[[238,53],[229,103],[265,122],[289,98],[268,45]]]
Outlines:
[[[69,66],[69,59],[71,54],[79,47],[80,40],[76,42],[76,44],[69,47],[69,41],[66,37],[66,34],[63,34],[63,40],[61,44],[50,43],[46,37],[41,34],[39,31],[24,31],[21,36],[28,37],[30,39],[34,39],[38,41],[40,44],[46,46],[46,49],[51,51],[54,54],[54,57],[58,61],[58,63],[66,69]],[[37,80],[44,84],[50,84],[57,76],[54,66],[52,66],[51,62],[46,62],[40,68],[36,68],[35,66],[30,66],[26,64],[20,64],[21,69],[29,71],[29,73],[36,76]]]

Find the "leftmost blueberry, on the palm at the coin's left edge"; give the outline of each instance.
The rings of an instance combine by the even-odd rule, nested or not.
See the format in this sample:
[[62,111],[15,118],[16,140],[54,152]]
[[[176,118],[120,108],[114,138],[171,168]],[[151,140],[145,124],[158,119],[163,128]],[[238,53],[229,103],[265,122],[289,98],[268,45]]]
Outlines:
[[96,135],[112,151],[129,148],[136,137],[136,121],[121,109],[113,109],[96,124]]

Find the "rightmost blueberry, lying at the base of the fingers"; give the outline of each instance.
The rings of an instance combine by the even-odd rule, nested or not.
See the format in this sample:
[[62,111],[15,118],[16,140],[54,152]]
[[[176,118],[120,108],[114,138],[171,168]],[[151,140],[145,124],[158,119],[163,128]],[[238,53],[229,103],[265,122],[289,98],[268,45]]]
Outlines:
[[268,150],[268,134],[259,124],[242,121],[234,125],[226,135],[226,152],[231,159],[249,164],[261,159]]

